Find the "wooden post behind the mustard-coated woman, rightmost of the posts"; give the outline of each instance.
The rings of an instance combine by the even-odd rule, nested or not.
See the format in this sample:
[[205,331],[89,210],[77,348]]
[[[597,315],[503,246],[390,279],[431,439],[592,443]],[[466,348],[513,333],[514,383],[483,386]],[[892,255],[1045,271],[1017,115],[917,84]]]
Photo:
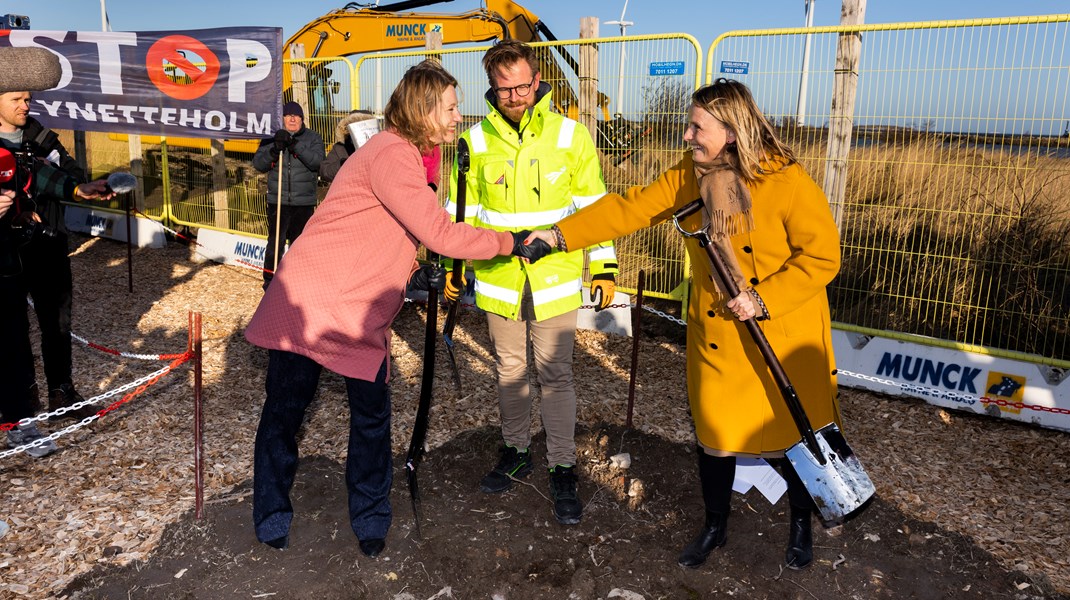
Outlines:
[[[866,0],[843,0],[841,26],[861,25],[866,20]],[[843,220],[843,201],[847,189],[847,154],[854,126],[855,95],[858,89],[858,63],[861,60],[861,33],[841,33],[836,47],[836,80],[828,120],[828,153],[825,163],[825,196],[832,206],[836,225]]]

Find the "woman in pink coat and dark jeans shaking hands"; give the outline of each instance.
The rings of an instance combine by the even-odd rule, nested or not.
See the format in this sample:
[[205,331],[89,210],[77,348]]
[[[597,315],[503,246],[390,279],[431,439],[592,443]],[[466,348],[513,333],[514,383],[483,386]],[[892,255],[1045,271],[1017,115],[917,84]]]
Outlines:
[[445,279],[432,276],[438,267],[416,268],[417,246],[458,258],[540,256],[534,245],[524,246],[526,233],[450,221],[429,188],[423,156],[456,138],[456,87],[432,61],[404,74],[386,105],[384,130],[342,166],[245,330],[246,339],[270,351],[253,476],[257,539],[269,545],[289,542],[296,434],[324,368],[346,378],[349,396],[346,483],[353,533],[368,556],[385,545],[393,478],[391,324],[410,278],[424,289]]

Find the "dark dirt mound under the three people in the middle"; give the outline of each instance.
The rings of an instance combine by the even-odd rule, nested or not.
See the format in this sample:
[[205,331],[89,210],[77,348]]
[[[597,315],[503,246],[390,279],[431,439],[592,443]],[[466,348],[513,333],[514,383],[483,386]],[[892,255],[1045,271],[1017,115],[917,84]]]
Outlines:
[[[480,428],[426,456],[418,538],[396,459],[394,526],[378,559],[360,553],[350,530],[342,465],[311,456],[294,487],[288,549],[256,541],[245,481],[209,506],[203,520],[186,514],[170,525],[148,560],[96,569],[65,593],[74,599],[991,599],[1014,598],[1023,581],[963,536],[880,498],[841,527],[815,524],[814,564],[789,571],[786,498],[770,506],[756,491],[736,495],[728,544],[702,568],[685,569],[676,555],[702,514],[692,448],[616,426],[581,431],[585,510],[581,524],[566,527],[550,513],[544,470],[506,493],[478,492],[499,440],[495,429]],[[533,448],[541,447],[540,436]],[[622,451],[632,459],[626,471],[608,460]]]

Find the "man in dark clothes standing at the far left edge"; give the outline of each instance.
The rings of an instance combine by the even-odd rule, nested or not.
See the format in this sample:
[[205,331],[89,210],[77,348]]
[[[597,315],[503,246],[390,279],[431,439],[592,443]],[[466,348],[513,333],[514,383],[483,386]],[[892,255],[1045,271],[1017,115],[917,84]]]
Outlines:
[[[12,218],[16,226],[40,232],[19,248],[22,263],[19,277],[33,298],[41,327],[41,357],[51,412],[83,400],[72,378],[74,284],[63,202],[98,194],[88,191],[89,188],[82,188],[86,196],[75,194],[77,186],[86,185],[86,172],[60,143],[56,132],[29,116],[30,98],[31,93],[26,91],[0,94],[0,145],[36,159],[35,165],[28,166],[35,186],[32,209]],[[100,191],[106,188],[103,182],[98,187]],[[63,417],[83,418],[90,414],[91,409],[82,409],[70,411]]]

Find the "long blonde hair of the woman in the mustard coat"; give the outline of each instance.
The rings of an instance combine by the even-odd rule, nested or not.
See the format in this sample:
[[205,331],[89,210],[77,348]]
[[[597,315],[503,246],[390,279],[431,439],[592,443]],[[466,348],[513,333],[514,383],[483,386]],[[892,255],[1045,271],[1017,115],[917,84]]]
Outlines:
[[738,157],[737,171],[745,181],[758,181],[764,172],[763,161],[795,163],[795,153],[777,137],[747,86],[721,78],[696,90],[691,94],[691,103],[705,109],[735,134],[736,141],[728,144],[725,150]]

